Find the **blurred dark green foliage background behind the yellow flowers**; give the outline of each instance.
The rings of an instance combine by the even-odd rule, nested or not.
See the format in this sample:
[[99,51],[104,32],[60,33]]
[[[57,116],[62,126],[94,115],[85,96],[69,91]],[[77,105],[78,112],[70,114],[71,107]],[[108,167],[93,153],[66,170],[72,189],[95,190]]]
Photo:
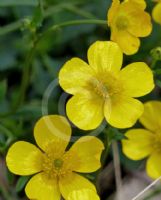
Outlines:
[[[110,30],[105,23],[83,24],[82,21],[81,25],[46,30],[73,20],[106,20],[110,5],[111,0],[0,0],[0,200],[27,199],[23,189],[30,177],[11,174],[5,166],[5,156],[14,141],[34,143],[33,127],[42,116],[42,99],[52,81],[57,80],[63,63],[72,57],[87,60],[90,44],[110,39]],[[154,2],[147,0],[148,12],[151,13],[153,7]],[[141,40],[137,54],[124,57],[124,66],[137,61],[150,65],[150,51],[157,46],[161,46],[161,26],[153,22],[152,34]],[[142,101],[161,98],[161,62],[157,62],[154,74],[156,88]],[[60,114],[65,114],[68,97],[63,99],[63,91],[57,84],[53,87],[45,109],[51,114],[60,113],[60,110]],[[136,126],[141,125],[138,123]],[[88,133],[73,127],[73,134]],[[103,140],[101,134],[99,137]],[[145,162],[127,159],[121,152],[121,145],[120,159],[121,193],[123,200],[130,200],[152,180],[145,174]],[[94,173],[87,177],[96,182],[102,200],[115,199],[111,152],[100,175]],[[160,183],[140,199],[161,199]]]

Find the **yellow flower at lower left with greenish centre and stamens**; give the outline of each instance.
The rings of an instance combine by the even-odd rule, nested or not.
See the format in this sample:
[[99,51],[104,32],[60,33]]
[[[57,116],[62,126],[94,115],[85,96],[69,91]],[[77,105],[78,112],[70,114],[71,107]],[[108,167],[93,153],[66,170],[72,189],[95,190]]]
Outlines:
[[67,120],[58,115],[42,117],[35,125],[34,137],[40,147],[20,141],[13,144],[6,162],[11,172],[34,175],[26,185],[29,199],[67,199],[74,190],[90,189],[94,185],[76,172],[89,173],[100,168],[103,143],[93,136],[80,138],[65,151],[71,137]]

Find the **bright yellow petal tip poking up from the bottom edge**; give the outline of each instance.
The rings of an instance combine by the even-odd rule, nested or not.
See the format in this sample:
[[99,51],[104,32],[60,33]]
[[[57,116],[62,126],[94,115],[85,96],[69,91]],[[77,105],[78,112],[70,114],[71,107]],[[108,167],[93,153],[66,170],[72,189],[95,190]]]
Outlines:
[[67,200],[100,200],[99,196],[93,190],[82,189],[70,192]]

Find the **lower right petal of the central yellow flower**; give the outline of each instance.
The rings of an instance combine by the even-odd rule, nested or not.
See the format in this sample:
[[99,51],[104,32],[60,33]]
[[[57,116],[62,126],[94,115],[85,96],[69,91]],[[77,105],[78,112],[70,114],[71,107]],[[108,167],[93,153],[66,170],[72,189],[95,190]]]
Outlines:
[[104,114],[107,122],[116,128],[129,128],[133,126],[143,113],[140,101],[123,96],[116,96],[105,103]]

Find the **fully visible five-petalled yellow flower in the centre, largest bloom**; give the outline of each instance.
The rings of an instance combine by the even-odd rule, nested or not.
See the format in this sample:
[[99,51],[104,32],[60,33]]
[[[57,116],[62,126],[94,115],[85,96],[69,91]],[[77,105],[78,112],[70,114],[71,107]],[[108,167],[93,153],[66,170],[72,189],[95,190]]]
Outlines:
[[73,58],[59,73],[59,83],[74,95],[67,103],[69,119],[79,128],[97,128],[104,117],[117,128],[131,127],[143,113],[135,97],[154,88],[153,75],[143,62],[121,70],[123,54],[114,42],[97,41],[88,50],[88,62]]

